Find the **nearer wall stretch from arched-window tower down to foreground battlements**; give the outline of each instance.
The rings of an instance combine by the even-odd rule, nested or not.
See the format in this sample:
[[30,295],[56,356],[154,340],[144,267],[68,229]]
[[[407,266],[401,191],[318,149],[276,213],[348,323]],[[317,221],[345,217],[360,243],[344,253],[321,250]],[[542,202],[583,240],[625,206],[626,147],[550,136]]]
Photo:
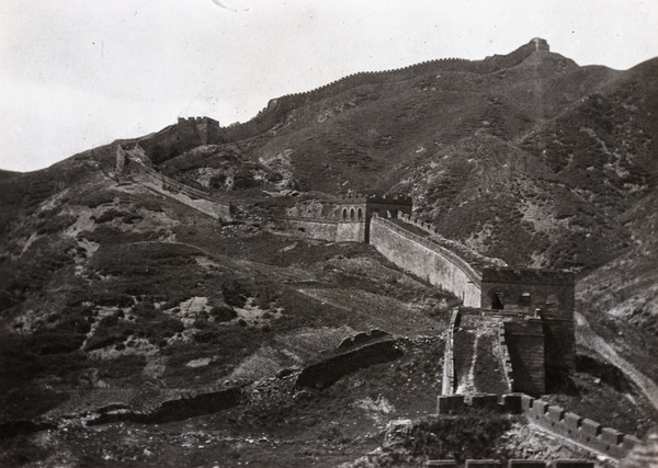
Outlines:
[[[400,197],[389,197],[388,201],[390,199],[401,202],[401,205],[409,203],[406,198],[402,202]],[[622,458],[638,442],[635,436],[603,427],[597,422],[526,395],[541,395],[545,391],[546,369],[549,367],[563,370],[574,368],[572,275],[512,270],[501,266],[504,264],[498,259],[478,255],[465,247],[449,249],[436,242],[441,237],[433,226],[410,215],[410,206],[405,206],[404,212],[392,213],[394,206],[375,210],[373,202],[384,201],[361,195],[343,196],[336,202],[336,209],[328,212],[336,219],[297,218],[294,224],[288,224],[287,219],[283,228],[280,227],[279,233],[331,241],[366,241],[402,270],[453,293],[462,300],[462,307],[451,313],[446,333],[443,395],[438,397],[439,414],[455,414],[468,409],[522,414],[533,425],[557,434],[580,448],[612,459]],[[360,235],[358,238],[341,239],[337,231],[305,229],[313,224],[325,222],[337,226],[359,224]],[[303,231],[298,230],[300,227]],[[367,237],[365,232],[368,233]],[[468,256],[468,261],[462,255]],[[496,304],[498,300],[501,304]],[[483,384],[485,388],[478,388],[477,381],[466,383],[468,377],[464,365],[455,359],[455,353],[463,353],[458,345],[460,339],[466,336],[464,333],[469,330],[479,330],[480,333],[485,330],[477,338],[488,339],[491,346],[487,351],[492,352],[478,353],[476,338],[473,354],[466,356],[472,366],[477,364],[477,359],[485,359],[481,367],[495,368],[495,373],[490,373],[489,379]],[[464,361],[464,356],[461,361]],[[487,387],[500,391],[479,395]],[[460,388],[468,388],[472,395],[455,395]],[[510,391],[517,393],[509,393]],[[500,466],[495,460],[487,460],[490,465],[481,465],[483,460],[469,461],[472,464],[466,466]],[[527,460],[517,461],[510,466],[526,466],[522,463]],[[544,461],[532,466],[540,466],[542,463]],[[565,464],[555,466],[593,466],[588,461],[568,463],[571,465],[565,460]],[[428,466],[439,465],[429,463]],[[456,465],[445,461],[442,466]],[[546,463],[544,466],[547,466]]]

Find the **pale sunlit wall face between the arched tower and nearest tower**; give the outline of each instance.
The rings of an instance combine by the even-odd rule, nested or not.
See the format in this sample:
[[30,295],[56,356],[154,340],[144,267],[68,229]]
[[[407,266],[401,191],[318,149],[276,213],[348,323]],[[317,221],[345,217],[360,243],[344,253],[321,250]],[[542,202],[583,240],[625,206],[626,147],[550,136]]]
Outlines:
[[450,290],[464,306],[479,306],[481,277],[464,260],[387,219],[375,216],[370,225],[370,243],[386,259],[430,284]]

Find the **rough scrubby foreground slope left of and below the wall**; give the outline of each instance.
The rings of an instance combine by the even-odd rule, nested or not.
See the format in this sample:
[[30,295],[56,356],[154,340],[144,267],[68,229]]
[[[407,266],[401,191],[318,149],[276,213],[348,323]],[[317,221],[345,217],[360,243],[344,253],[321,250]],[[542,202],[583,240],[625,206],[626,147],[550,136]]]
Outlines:
[[[97,464],[105,444],[77,437],[112,438],[125,423],[175,426],[235,404],[237,413],[220,420],[227,432],[212,436],[234,447],[230,457],[254,434],[294,441],[300,423],[305,437],[331,452],[353,433],[375,434],[378,414],[432,412],[449,296],[367,246],[273,237],[239,215],[223,225],[92,161],[63,164],[83,168],[82,183],[44,185],[41,198],[12,205],[3,238],[0,438],[10,438],[0,442],[2,465]],[[374,331],[399,350],[392,359],[368,355]],[[341,367],[336,357],[345,353],[356,365]],[[338,363],[337,384],[319,396],[296,384],[324,361]],[[353,383],[342,380],[354,373]],[[307,411],[309,399],[317,408]],[[343,434],[344,423],[319,420],[330,407],[341,421],[372,418]],[[309,432],[304,420],[314,412]],[[71,438],[47,435],[66,427]],[[124,449],[110,449],[107,466],[126,461]]]

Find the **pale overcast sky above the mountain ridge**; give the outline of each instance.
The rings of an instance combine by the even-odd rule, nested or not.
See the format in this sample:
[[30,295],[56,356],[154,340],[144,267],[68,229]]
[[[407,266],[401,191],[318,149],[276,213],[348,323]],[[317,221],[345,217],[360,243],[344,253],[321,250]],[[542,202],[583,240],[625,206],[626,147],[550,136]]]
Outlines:
[[636,0],[0,0],[0,168],[31,171],[117,138],[356,71],[507,54],[540,36],[579,65],[658,56]]

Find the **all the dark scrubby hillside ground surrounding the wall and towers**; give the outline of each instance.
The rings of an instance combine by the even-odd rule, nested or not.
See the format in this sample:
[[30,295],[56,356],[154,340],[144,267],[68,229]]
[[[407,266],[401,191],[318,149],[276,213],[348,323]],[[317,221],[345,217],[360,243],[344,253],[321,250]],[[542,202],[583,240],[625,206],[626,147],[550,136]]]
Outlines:
[[[445,238],[578,272],[593,332],[657,379],[657,71],[531,43],[273,100],[201,146],[175,124],[159,147],[117,140],[1,172],[0,465],[332,466],[382,446],[388,421],[431,414],[455,298],[368,246],[265,229],[347,190],[409,193]],[[230,199],[234,219],[117,174],[117,145],[139,141],[156,170]],[[552,401],[642,436],[649,400],[595,346],[579,353]],[[467,447],[428,440],[432,456],[524,456],[533,437],[546,456],[581,455],[522,421],[488,424]],[[401,456],[383,449],[381,464]]]

